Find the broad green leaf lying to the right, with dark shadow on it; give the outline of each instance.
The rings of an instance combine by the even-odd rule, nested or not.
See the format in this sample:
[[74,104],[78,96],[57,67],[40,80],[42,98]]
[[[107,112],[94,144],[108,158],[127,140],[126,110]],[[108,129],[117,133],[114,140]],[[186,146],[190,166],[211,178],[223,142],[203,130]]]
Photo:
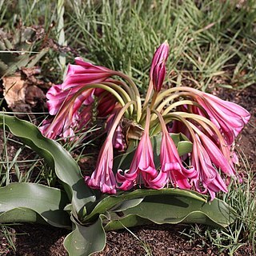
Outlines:
[[202,202],[184,195],[162,194],[147,196],[138,206],[123,210],[122,214],[111,213],[109,218],[106,230],[122,228],[122,224],[134,226],[141,218],[157,224],[186,222],[223,228],[234,222],[235,212],[218,199]]

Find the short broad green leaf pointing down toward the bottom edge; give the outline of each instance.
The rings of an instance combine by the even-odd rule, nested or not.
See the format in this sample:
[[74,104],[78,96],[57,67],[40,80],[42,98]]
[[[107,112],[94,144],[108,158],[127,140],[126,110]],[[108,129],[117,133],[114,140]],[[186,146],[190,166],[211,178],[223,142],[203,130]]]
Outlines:
[[99,216],[90,226],[81,226],[73,218],[75,229],[64,240],[64,247],[69,255],[87,256],[104,249],[106,233],[102,226],[102,218],[104,216]]

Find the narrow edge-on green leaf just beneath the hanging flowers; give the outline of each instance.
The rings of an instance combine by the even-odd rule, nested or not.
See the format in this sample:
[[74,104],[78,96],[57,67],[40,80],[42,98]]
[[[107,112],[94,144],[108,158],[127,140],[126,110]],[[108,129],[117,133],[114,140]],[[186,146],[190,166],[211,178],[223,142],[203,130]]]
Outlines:
[[[181,196],[185,198],[194,198],[198,202],[206,202],[206,197],[202,196],[202,194],[198,194],[190,190],[179,190],[174,188],[166,188],[162,190],[134,190],[132,192],[125,192],[119,195],[110,195],[106,198],[103,198],[100,202],[98,202],[98,205],[94,207],[94,210],[90,214],[84,216],[82,221],[87,222],[94,220],[95,218],[98,218],[99,214],[104,214],[113,209],[114,206],[118,206],[118,204],[121,202],[125,203],[127,200],[145,198],[147,196],[153,195],[158,195],[161,198],[166,194],[174,197]],[[138,206],[140,205],[141,203]],[[118,207],[121,206],[119,205]]]

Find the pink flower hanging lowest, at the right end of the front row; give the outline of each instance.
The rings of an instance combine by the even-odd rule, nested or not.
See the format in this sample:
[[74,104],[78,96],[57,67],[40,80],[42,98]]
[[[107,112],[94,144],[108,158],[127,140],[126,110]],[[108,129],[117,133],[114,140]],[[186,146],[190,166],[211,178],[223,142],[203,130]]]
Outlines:
[[194,182],[195,189],[199,193],[206,194],[208,191],[211,200],[213,200],[215,194],[220,190],[227,192],[225,182],[223,182],[218,171],[212,165],[209,152],[202,146],[197,135],[193,143],[191,163],[192,166],[194,166],[194,169],[198,172],[198,176],[192,178],[192,182]]

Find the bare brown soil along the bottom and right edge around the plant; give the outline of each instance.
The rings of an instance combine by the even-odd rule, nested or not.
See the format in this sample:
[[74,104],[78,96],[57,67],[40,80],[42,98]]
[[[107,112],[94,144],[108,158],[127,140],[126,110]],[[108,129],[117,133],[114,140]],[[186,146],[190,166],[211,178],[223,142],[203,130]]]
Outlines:
[[[218,96],[239,103],[251,113],[250,124],[242,131],[237,140],[237,149],[243,152],[250,162],[254,173],[256,172],[256,86],[250,86],[246,90],[218,90]],[[226,255],[219,254],[217,248],[203,241],[200,237],[190,239],[181,234],[185,225],[151,225],[139,226],[130,229],[133,234],[126,230],[111,231],[107,233],[106,248],[95,256],[131,256],[146,255],[145,242],[151,254],[160,255]],[[27,255],[27,256],[58,256],[67,255],[62,242],[68,234],[67,230],[57,229],[52,226],[22,224],[10,226],[14,234],[16,252],[8,250],[6,238],[0,234],[0,255]],[[193,242],[192,242],[193,241]],[[248,245],[242,246],[235,255],[254,255]]]

